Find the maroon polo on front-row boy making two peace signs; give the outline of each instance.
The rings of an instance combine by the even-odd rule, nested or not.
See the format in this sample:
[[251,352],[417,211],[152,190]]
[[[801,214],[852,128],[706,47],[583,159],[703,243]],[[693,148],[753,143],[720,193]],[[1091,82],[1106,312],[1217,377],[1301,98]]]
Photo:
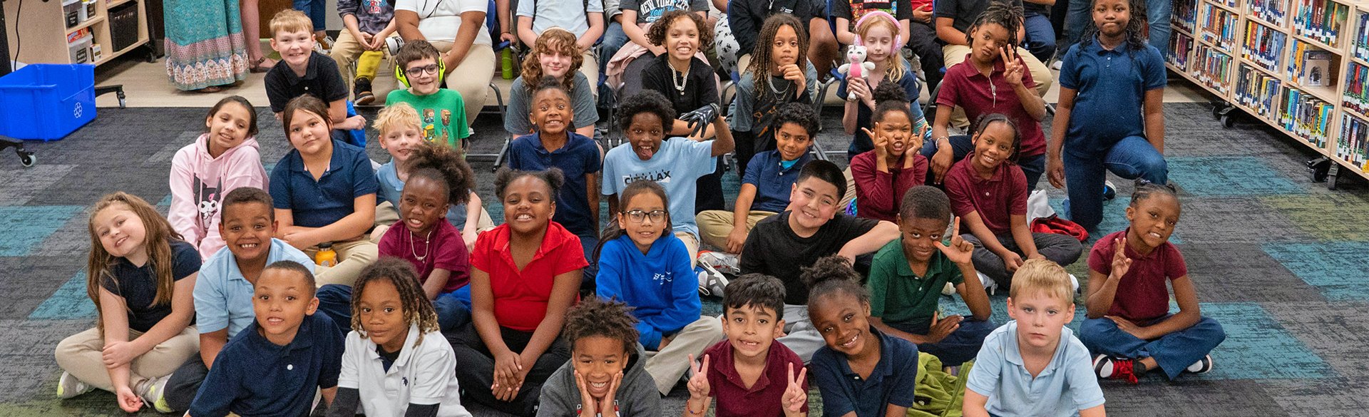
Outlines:
[[[756,380],[750,390],[742,383],[742,376],[737,373],[732,364],[732,345],[728,340],[717,342],[704,350],[708,355],[708,386],[709,395],[717,398],[713,412],[717,417],[782,417],[784,406],[784,388],[789,388],[789,366],[794,364],[794,373],[804,368],[804,360],[784,343],[772,342],[769,353],[765,354],[765,372]],[[808,381],[804,381],[804,392],[808,392]],[[804,405],[808,413],[808,405]]]

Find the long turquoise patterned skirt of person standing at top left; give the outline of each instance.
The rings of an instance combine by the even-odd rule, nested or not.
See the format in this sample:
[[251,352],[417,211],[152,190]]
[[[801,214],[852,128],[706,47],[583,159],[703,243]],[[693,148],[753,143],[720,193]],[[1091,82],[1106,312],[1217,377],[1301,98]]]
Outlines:
[[246,78],[238,0],[166,0],[164,10],[167,78],[177,89],[218,93]]

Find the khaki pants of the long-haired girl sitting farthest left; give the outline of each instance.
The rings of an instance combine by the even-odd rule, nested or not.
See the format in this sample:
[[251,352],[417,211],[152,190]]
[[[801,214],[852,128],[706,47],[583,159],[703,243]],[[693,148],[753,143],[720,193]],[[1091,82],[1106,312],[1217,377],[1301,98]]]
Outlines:
[[[137,339],[142,332],[129,329],[129,340]],[[71,335],[57,343],[57,366],[71,373],[88,386],[114,392],[114,383],[110,380],[110,371],[104,368],[104,338],[99,328]],[[137,357],[130,364],[129,388],[153,377],[171,375],[190,355],[200,354],[200,331],[194,325],[186,325],[181,334],[152,347],[148,353]]]

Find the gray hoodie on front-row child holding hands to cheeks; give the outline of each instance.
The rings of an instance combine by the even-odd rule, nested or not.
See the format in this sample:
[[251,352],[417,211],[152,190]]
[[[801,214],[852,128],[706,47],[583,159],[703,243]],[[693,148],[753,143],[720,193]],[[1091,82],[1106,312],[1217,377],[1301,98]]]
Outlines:
[[[575,360],[565,362],[552,373],[542,384],[542,398],[537,409],[537,417],[574,417],[575,407],[580,405],[580,388],[575,386]],[[646,373],[646,351],[637,346],[637,354],[627,361],[627,371],[623,372],[623,381],[617,386],[613,398],[617,399],[617,410],[622,417],[658,417],[661,416],[661,394],[656,391],[656,380]],[[594,417],[594,416],[585,416]],[[604,416],[612,417],[612,416]]]

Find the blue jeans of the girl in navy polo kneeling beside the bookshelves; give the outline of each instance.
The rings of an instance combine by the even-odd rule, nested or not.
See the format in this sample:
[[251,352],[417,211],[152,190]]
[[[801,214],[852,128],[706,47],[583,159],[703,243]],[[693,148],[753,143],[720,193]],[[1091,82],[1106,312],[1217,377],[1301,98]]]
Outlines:
[[1090,235],[1097,232],[1103,220],[1103,179],[1105,170],[1125,179],[1144,178],[1162,185],[1169,176],[1165,156],[1155,150],[1146,138],[1125,137],[1102,157],[1080,157],[1064,152],[1065,183],[1069,200],[1065,212],[1071,221],[1079,223]]

